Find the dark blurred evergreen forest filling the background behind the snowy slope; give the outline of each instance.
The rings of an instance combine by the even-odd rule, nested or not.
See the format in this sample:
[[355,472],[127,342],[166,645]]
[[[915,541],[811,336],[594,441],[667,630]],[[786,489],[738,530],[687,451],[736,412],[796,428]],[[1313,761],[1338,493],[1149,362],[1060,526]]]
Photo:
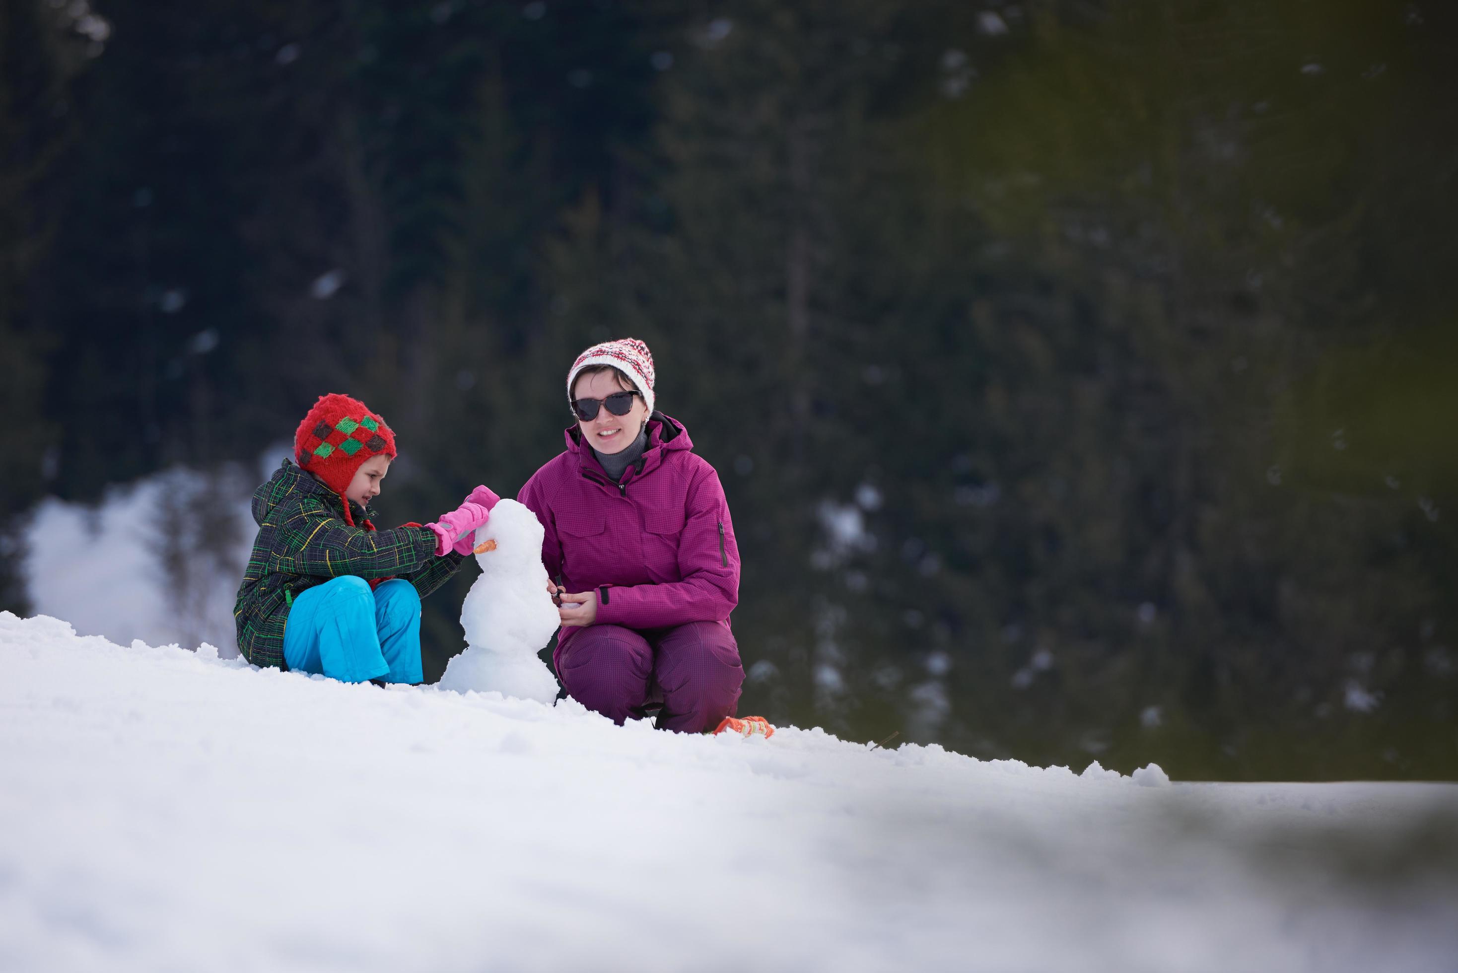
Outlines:
[[325,391],[391,522],[515,495],[636,336],[733,508],[741,712],[1458,778],[1455,19],[0,0],[0,600],[38,497]]

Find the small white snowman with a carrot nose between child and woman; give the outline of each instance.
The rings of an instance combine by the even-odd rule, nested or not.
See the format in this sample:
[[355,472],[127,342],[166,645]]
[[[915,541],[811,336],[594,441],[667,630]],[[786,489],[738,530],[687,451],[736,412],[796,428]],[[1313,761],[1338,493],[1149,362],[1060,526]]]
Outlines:
[[461,605],[467,651],[451,659],[440,689],[551,703],[557,678],[537,655],[561,624],[547,591],[542,525],[516,500],[500,500],[475,532],[481,576]]

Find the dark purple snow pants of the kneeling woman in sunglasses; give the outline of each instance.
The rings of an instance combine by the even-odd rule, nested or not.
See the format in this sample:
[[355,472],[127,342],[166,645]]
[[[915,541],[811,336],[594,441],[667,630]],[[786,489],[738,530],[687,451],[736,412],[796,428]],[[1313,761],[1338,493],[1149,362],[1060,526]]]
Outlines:
[[739,705],[739,645],[716,621],[643,630],[593,624],[574,632],[555,656],[567,694],[618,725],[662,703],[660,728],[695,734],[716,728]]

